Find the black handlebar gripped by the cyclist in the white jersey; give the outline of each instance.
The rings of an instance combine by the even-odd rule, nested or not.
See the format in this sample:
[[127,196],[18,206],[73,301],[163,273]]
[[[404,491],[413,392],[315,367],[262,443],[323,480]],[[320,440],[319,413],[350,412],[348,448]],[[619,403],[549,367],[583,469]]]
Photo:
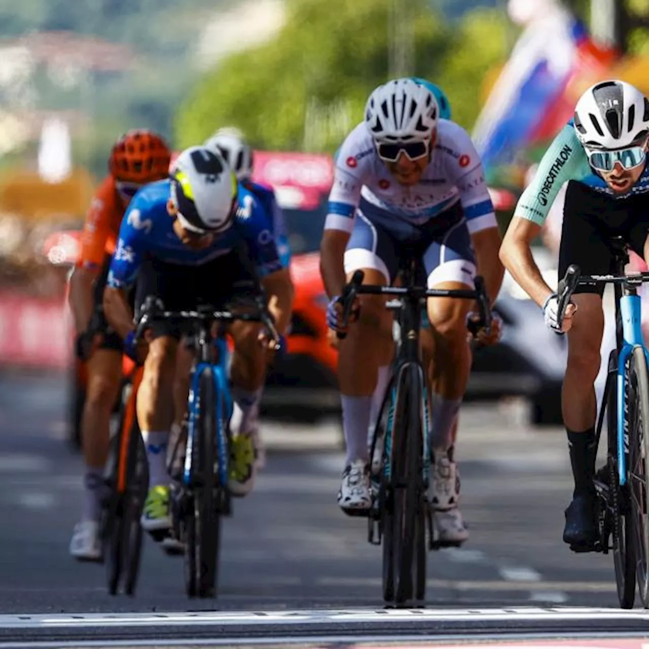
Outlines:
[[[478,302],[478,320],[471,320],[467,324],[472,336],[476,336],[481,329],[491,331],[491,306],[489,296],[485,287],[484,278],[476,276],[474,280],[475,289],[430,289],[423,286],[378,286],[378,284],[363,284],[363,271],[356,271],[348,284],[345,284],[340,303],[343,307],[343,326],[349,324],[349,317],[352,313],[354,300],[357,295],[402,295],[419,297],[455,297],[465,300],[476,300]],[[345,338],[345,332],[336,332],[339,339]]]

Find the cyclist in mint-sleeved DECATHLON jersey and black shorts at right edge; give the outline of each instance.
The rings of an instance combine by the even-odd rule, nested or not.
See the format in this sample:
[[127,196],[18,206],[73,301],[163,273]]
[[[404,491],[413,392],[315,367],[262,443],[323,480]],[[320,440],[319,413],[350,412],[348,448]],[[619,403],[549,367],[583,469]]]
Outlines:
[[[591,86],[574,117],[546,151],[532,183],[522,193],[500,249],[500,258],[521,288],[543,309],[545,323],[559,331],[557,295],[536,267],[530,243],[541,232],[559,188],[568,182],[559,249],[559,276],[571,263],[587,275],[610,273],[611,236],[623,236],[647,258],[649,232],[649,101],[624,81]],[[574,475],[565,510],[563,540],[587,551],[596,538],[593,477],[596,448],[594,380],[600,369],[604,328],[602,287],[580,286],[566,310],[568,364],[561,407]]]

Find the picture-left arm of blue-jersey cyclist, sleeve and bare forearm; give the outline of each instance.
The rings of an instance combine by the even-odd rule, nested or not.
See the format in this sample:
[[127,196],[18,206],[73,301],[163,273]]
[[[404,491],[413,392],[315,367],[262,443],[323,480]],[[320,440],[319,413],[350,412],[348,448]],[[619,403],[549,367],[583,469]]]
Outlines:
[[129,224],[127,216],[123,219],[104,289],[104,315],[123,339],[134,329],[127,289],[134,282],[142,262],[145,236],[142,233],[143,230],[137,230]]

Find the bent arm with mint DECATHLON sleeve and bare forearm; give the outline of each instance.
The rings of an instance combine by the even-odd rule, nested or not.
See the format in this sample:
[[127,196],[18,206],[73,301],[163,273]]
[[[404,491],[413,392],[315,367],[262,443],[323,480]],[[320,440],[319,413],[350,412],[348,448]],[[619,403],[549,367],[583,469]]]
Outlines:
[[541,234],[552,202],[564,182],[581,180],[589,173],[582,145],[567,125],[556,136],[539,164],[532,182],[520,196],[502,245],[500,260],[513,278],[539,306],[554,292],[543,280],[532,256],[532,240]]

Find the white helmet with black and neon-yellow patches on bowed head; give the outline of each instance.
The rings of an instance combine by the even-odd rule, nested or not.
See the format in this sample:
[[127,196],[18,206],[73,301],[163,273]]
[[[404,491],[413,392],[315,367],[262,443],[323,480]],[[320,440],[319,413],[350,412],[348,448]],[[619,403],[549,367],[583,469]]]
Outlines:
[[180,225],[191,232],[223,232],[232,225],[237,179],[223,156],[190,147],[171,167],[171,201]]

